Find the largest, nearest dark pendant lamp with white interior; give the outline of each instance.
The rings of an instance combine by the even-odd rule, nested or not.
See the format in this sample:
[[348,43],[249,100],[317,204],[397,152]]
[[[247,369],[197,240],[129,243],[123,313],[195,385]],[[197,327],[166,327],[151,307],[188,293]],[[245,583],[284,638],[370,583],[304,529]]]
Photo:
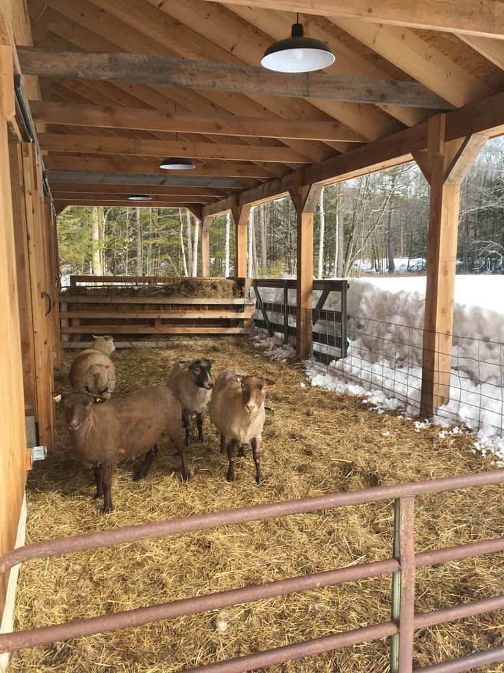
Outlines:
[[292,24],[291,36],[279,40],[268,47],[261,59],[261,65],[279,73],[309,73],[327,68],[336,60],[331,49],[321,40],[304,36],[303,24]]

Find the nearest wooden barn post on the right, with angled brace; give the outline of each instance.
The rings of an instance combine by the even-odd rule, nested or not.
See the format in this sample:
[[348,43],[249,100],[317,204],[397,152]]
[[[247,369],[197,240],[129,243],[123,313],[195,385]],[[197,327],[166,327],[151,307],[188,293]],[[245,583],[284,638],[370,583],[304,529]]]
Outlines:
[[420,412],[431,416],[450,399],[453,296],[460,184],[487,136],[445,142],[446,115],[429,119],[427,152],[413,154],[431,185]]

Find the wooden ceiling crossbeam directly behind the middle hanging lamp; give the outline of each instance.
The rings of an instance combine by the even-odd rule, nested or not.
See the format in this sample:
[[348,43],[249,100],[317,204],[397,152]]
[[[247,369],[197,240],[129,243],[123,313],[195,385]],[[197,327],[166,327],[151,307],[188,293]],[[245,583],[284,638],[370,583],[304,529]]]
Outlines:
[[[160,162],[151,158],[135,158],[135,157],[88,157],[88,156],[71,156],[69,154],[47,154],[45,156],[45,167],[48,171],[74,171],[75,162],[79,163],[79,172],[89,173],[116,173],[128,174],[139,173],[151,175],[157,174],[166,178],[169,176],[212,176],[222,178],[260,178],[262,180],[275,177],[275,172],[272,172],[264,164],[255,163],[224,163],[223,161],[212,161],[209,163],[202,163],[196,161],[196,167],[190,171],[190,176],[187,171],[170,171],[160,169]],[[269,165],[270,166],[270,165]],[[240,188],[247,186],[247,182],[242,182]]]

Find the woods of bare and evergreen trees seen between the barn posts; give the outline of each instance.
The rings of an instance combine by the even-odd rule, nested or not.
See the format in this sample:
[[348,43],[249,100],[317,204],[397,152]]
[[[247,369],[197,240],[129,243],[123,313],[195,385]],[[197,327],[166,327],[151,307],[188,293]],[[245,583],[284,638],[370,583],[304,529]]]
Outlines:
[[[414,163],[326,186],[314,219],[314,274],[425,269],[429,185]],[[201,272],[201,224],[186,209],[71,206],[58,217],[63,274]],[[290,198],[251,209],[250,276],[296,274],[297,217]],[[210,229],[210,273],[234,274],[229,214]],[[458,271],[504,270],[504,140],[489,141],[462,184]]]

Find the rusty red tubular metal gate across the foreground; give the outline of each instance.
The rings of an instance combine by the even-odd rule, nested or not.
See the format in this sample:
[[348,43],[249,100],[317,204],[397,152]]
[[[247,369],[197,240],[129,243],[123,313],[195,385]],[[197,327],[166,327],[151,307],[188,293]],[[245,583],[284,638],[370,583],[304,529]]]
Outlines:
[[[350,645],[390,637],[390,671],[391,673],[411,673],[413,670],[413,636],[414,630],[425,628],[453,619],[479,615],[496,609],[504,609],[504,595],[494,596],[459,604],[450,608],[414,614],[415,570],[447,561],[462,560],[471,556],[491,554],[504,550],[504,537],[482,542],[467,543],[430,552],[414,553],[414,498],[426,493],[442,493],[456,491],[459,488],[483,486],[485,484],[501,484],[504,482],[504,471],[480,472],[459,477],[425,482],[409,482],[395,486],[379,486],[366,488],[362,491],[346,493],[330,493],[318,497],[299,500],[275,502],[253,507],[243,507],[220,512],[180,519],[166,519],[156,523],[144,523],[139,526],[128,526],[115,530],[86,533],[73,537],[42,541],[20,547],[0,558],[0,573],[5,573],[14,565],[29,558],[40,556],[58,556],[68,552],[79,552],[99,547],[108,547],[164,535],[173,535],[190,531],[205,530],[216,526],[230,526],[247,521],[260,521],[294,514],[318,512],[331,508],[377,502],[394,499],[394,556],[387,560],[372,561],[360,565],[298,576],[286,580],[275,580],[264,585],[242,587],[230,591],[219,591],[207,595],[175,600],[146,608],[128,610],[121,613],[79,619],[67,624],[54,624],[42,628],[33,628],[17,633],[0,635],[0,652],[12,652],[22,648],[44,645],[55,641],[88,636],[95,633],[140,626],[162,619],[173,619],[183,615],[216,608],[229,607],[239,603],[273,596],[286,595],[307,589],[328,587],[363,580],[386,574],[393,574],[392,580],[392,618],[390,622],[381,622],[373,626],[336,633],[300,643],[236,657],[219,663],[199,666],[190,671],[205,670],[212,673],[242,673],[256,670],[264,666],[307,657],[312,654],[329,652]],[[487,663],[504,661],[504,647],[492,648],[483,652],[475,652],[468,657],[446,661],[437,665],[422,668],[424,673],[456,673],[467,671]]]

